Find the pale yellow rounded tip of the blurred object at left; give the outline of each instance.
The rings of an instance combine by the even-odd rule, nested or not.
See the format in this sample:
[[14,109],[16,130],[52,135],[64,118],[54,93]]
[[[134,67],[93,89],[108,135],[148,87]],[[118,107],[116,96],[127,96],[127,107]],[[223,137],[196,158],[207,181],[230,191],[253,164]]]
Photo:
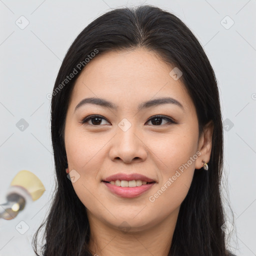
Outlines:
[[37,200],[45,191],[41,180],[31,171],[20,170],[12,179],[11,186],[21,186],[27,190],[32,200]]

